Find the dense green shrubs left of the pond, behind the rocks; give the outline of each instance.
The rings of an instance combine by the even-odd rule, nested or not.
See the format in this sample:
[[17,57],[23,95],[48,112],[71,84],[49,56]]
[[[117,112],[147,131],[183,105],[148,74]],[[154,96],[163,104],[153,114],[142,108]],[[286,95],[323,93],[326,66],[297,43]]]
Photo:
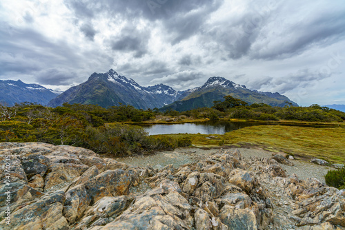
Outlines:
[[142,127],[122,122],[154,116],[130,105],[104,109],[97,105],[64,104],[50,108],[32,103],[2,107],[1,142],[43,142],[86,147],[99,154],[122,156],[190,145],[188,138],[155,138]]

